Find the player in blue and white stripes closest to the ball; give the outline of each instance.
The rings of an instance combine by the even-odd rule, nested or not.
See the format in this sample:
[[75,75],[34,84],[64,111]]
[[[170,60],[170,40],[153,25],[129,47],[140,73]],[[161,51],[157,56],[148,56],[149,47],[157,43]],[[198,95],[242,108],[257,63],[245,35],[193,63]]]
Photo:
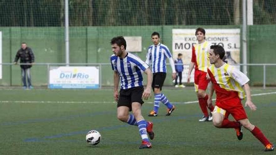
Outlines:
[[[117,104],[117,118],[130,125],[138,126],[142,137],[142,144],[139,148],[151,148],[148,139],[154,138],[152,131],[153,123],[145,121],[141,114],[141,106],[144,103],[142,98],[148,99],[151,94],[152,72],[149,66],[138,56],[128,53],[124,37],[111,39],[113,55],[110,57],[112,70],[114,70],[114,99]],[[147,75],[147,85],[144,90],[142,73]],[[118,93],[119,80],[121,89]],[[129,111],[133,111],[130,114]]]

